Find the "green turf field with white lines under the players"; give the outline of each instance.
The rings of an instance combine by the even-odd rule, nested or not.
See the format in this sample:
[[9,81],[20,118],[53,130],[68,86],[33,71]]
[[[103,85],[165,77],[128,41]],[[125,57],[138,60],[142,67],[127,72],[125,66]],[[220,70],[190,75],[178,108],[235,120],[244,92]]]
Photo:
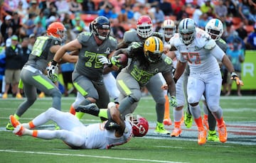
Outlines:
[[[63,98],[63,111],[68,111],[75,97]],[[154,135],[156,115],[154,101],[143,98],[136,113],[149,120],[146,137],[134,137],[125,145],[111,150],[70,150],[61,140],[39,140],[34,137],[17,137],[6,131],[9,115],[14,114],[23,100],[0,99],[0,162],[255,162],[256,159],[256,96],[222,97],[220,105],[228,127],[228,142],[197,144],[196,126],[187,129],[182,137]],[[38,99],[24,113],[21,123],[46,111],[51,99]],[[171,118],[172,108],[171,108]],[[85,115],[85,124],[99,119]],[[173,122],[174,123],[174,122]],[[52,123],[47,126],[51,129]],[[166,126],[172,130],[174,125]]]

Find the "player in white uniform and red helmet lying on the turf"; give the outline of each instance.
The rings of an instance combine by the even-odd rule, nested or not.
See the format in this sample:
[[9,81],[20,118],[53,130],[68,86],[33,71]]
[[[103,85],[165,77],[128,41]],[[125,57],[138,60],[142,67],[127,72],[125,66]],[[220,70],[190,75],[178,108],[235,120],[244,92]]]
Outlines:
[[[80,106],[79,111],[86,113],[92,106],[100,112],[95,103],[88,106]],[[115,145],[128,142],[132,136],[142,137],[149,129],[149,123],[139,115],[129,114],[123,120],[116,104],[108,104],[109,120],[104,123],[83,125],[78,118],[71,113],[48,108],[46,112],[31,120],[29,123],[19,123],[14,116],[10,121],[15,127],[13,133],[19,136],[30,135],[45,140],[60,139],[73,149],[110,149]],[[36,130],[39,125],[53,120],[60,126],[60,130]]]

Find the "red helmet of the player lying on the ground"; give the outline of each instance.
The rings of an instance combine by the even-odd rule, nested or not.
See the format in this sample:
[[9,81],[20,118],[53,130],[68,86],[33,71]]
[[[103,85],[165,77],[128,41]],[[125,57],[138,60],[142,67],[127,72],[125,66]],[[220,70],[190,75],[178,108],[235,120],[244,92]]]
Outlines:
[[142,116],[129,113],[125,116],[125,120],[131,123],[132,133],[135,137],[142,137],[146,135],[149,130],[149,123],[146,118],[143,118]]

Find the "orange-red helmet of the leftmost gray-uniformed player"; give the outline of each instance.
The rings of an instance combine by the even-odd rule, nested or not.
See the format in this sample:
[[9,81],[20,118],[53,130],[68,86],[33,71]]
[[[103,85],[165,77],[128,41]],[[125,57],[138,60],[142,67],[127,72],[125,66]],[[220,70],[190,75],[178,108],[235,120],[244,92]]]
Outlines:
[[63,23],[53,22],[47,28],[47,35],[51,35],[55,38],[63,38],[65,27]]

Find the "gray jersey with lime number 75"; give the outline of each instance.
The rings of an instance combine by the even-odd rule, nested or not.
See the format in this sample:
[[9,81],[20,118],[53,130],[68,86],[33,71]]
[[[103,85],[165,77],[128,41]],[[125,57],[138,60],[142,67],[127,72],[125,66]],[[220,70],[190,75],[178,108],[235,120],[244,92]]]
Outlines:
[[79,52],[75,72],[92,81],[102,80],[104,65],[100,63],[98,57],[101,55],[108,57],[117,48],[117,40],[110,36],[99,46],[92,33],[83,32],[78,35],[78,41],[82,45],[82,49]]

